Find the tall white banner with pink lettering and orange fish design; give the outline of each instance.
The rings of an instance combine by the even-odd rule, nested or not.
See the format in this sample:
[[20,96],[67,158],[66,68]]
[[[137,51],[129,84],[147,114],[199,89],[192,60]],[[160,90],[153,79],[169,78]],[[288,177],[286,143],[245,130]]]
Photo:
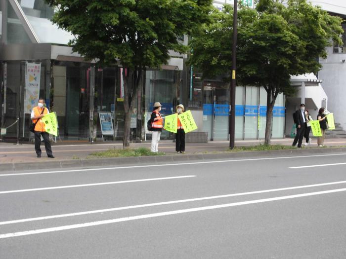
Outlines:
[[41,63],[26,62],[24,113],[31,113],[39,102]]

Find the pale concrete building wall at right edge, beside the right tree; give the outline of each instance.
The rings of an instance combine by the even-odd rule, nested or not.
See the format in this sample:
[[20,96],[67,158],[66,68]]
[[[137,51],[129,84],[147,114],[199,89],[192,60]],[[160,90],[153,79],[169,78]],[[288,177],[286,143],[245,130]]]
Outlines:
[[346,129],[346,62],[342,60],[346,60],[346,54],[333,54],[333,49],[328,48],[327,59],[320,59],[323,68],[318,79],[328,96],[328,111],[334,112],[335,122]]

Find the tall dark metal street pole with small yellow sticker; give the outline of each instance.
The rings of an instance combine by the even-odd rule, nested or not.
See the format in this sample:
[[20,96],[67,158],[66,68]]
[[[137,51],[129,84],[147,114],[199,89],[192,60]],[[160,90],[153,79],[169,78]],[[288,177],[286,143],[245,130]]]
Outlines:
[[233,45],[232,45],[232,79],[231,88],[229,91],[229,148],[234,148],[234,136],[235,136],[235,71],[237,61],[237,27],[238,27],[238,1],[234,0],[234,12],[233,12]]

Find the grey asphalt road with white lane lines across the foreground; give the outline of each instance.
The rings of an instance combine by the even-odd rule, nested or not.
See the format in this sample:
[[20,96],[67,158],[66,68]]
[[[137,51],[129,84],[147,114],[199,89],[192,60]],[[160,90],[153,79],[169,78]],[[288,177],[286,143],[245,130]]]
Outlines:
[[344,259],[345,199],[340,153],[1,173],[0,258]]

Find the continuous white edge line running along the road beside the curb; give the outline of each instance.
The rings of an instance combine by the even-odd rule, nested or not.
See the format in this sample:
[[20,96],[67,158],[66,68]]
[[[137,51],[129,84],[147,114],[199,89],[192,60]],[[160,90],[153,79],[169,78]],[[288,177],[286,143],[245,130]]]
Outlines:
[[259,160],[290,159],[290,158],[306,158],[306,157],[319,157],[319,156],[335,156],[335,155],[346,155],[346,153],[340,153],[340,154],[323,154],[323,155],[304,155],[304,156],[264,157],[264,158],[232,159],[232,160],[216,160],[216,161],[186,162],[186,163],[170,163],[170,164],[158,164],[158,165],[155,164],[155,165],[117,166],[117,167],[88,168],[88,169],[73,169],[73,170],[60,170],[60,171],[48,171],[48,172],[0,174],[0,176],[19,176],[19,175],[55,174],[55,173],[68,173],[68,172],[84,172],[84,171],[99,171],[99,170],[114,170],[114,169],[130,169],[130,168],[147,168],[147,167],[176,166],[176,165],[213,164],[213,163],[228,163],[228,162],[242,162],[242,161],[259,161]]

